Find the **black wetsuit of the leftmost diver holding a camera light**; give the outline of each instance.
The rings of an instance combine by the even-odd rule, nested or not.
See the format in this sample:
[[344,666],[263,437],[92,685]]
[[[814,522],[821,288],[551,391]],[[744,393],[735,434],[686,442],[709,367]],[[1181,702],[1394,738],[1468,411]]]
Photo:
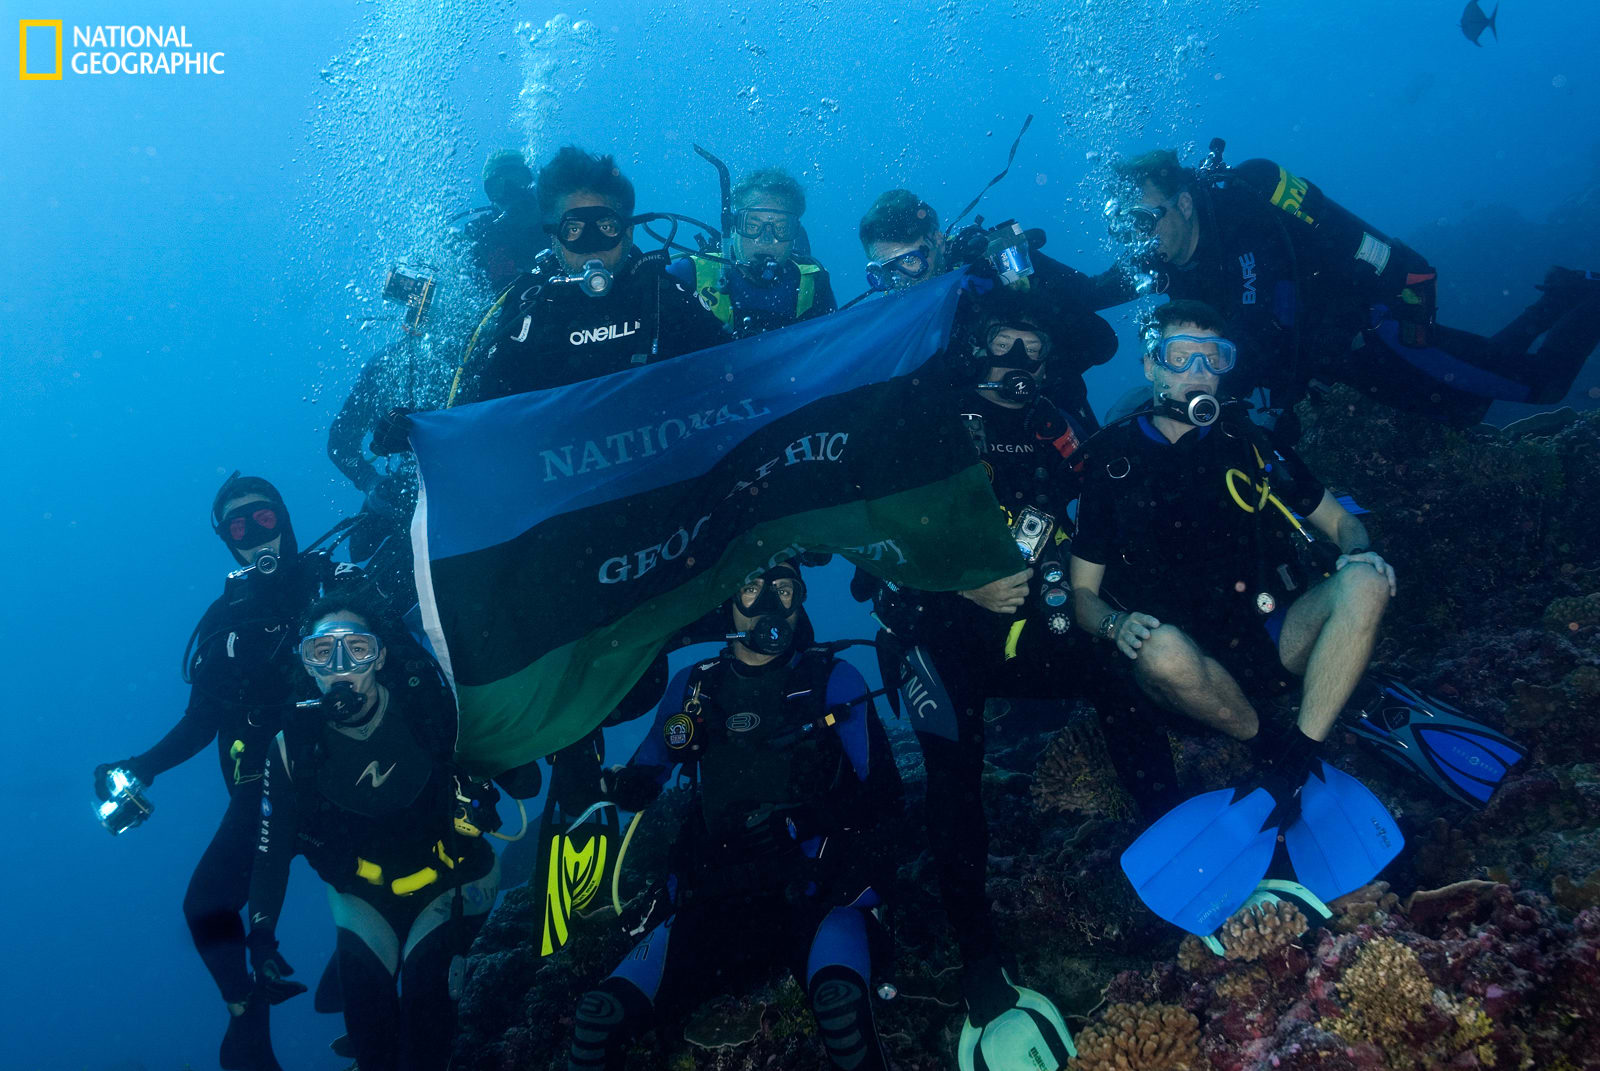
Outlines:
[[115,764],[149,784],[216,744],[227,810],[189,879],[184,919],[229,1004],[243,1002],[253,986],[240,911],[250,895],[267,744],[306,676],[294,650],[299,615],[330,576],[325,557],[304,556],[270,576],[229,581],[200,618],[184,716],[154,748]]

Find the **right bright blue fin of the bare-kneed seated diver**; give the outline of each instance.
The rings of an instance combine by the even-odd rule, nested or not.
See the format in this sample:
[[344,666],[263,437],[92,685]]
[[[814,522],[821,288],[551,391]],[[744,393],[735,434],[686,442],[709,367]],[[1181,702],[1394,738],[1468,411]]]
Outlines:
[[1301,789],[1301,816],[1283,831],[1294,876],[1318,900],[1338,900],[1378,877],[1405,837],[1365,784],[1318,760]]

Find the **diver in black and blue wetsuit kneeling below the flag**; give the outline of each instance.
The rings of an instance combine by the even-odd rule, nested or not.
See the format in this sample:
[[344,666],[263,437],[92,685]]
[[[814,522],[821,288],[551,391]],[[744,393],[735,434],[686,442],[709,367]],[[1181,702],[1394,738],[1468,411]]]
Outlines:
[[693,804],[645,937],[578,1004],[570,1071],[622,1068],[656,1018],[691,1010],[736,962],[773,961],[803,981],[832,1066],[888,1066],[874,909],[894,877],[899,775],[861,674],[840,645],[813,645],[805,596],[787,562],[744,583],[733,644],[674,677],[638,751],[602,778],[638,810],[682,767]]

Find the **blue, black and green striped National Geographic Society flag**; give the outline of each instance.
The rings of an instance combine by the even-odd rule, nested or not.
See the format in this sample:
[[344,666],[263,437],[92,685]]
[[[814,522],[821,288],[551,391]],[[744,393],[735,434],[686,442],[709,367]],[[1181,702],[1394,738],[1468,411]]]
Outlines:
[[493,773],[581,740],[674,632],[802,549],[926,591],[1016,572],[971,439],[922,378],[960,283],[414,416],[416,583],[461,759]]

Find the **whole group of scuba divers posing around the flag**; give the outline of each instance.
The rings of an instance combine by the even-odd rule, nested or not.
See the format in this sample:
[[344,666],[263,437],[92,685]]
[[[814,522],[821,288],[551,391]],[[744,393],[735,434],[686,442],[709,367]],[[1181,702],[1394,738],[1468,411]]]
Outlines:
[[[570,146],[534,173],[493,154],[493,210],[466,235],[498,298],[462,333],[448,395],[422,405],[624,373],[835,312],[800,184],[781,168],[738,184],[720,170],[712,240],[645,253],[635,227],[683,218],[635,215],[610,155]],[[1019,985],[984,895],[986,701],[1056,700],[1062,724],[1074,703],[1094,706],[1112,765],[1154,820],[1123,869],[1163,919],[1221,951],[1219,927],[1272,900],[1326,917],[1402,847],[1382,804],[1320,757],[1341,716],[1467,805],[1523,752],[1368,666],[1395,568],[1296,456],[1293,407],[1342,383],[1469,426],[1494,400],[1562,400],[1600,343],[1592,272],[1550,269],[1485,338],[1437,323],[1421,253],[1274,162],[1227,166],[1213,142],[1198,166],[1155,150],[1114,171],[1107,219],[1128,253],[1099,275],[1010,221],[941,227],[904,189],[859,224],[880,299],[965,272],[930,389],[971,435],[1022,556],[971,591],[859,568],[851,581],[925,760],[962,961],[963,1069],[1059,1068],[1074,1052],[1048,997]],[[402,283],[410,330],[432,280]],[[1098,312],[1152,293],[1168,301],[1138,355],[1147,386],[1101,423],[1083,373],[1117,338]],[[277,935],[296,855],[326,882],[338,932],[315,996],[344,1013],[336,1052],[363,1071],[448,1066],[464,956],[499,880],[496,800],[541,791],[536,762],[493,778],[453,762],[451,688],[403,621],[416,600],[408,410],[422,405],[384,386],[400,354],[363,370],[330,431],[333,461],[366,493],[357,519],[302,549],[270,482],[235,472],[218,491],[211,527],[238,568],[190,637],[187,709],[154,748],[94,772],[102,821],[120,832],[149,813],[146,786],[214,741],[229,802],[184,916],[227,1004],[222,1068],[278,1068],[269,1009],[307,989]],[[341,541],[365,568],[333,562]],[[726,639],[717,656],[670,680],[658,660],[606,722],[654,719],[629,762],[603,767],[597,735],[554,757],[565,815],[637,812],[675,772],[693,800],[667,872],[629,913],[637,946],[573,1012],[571,1071],[621,1068],[733,959],[792,967],[832,1066],[890,1066],[874,1002],[893,996],[880,908],[904,842],[901,781],[875,693],[840,658],[846,642],[821,642],[806,618],[818,564],[752,573],[690,629],[685,642]],[[1298,717],[1262,719],[1294,687]],[[1166,736],[1182,724],[1248,744],[1254,778],[1184,800]]]

